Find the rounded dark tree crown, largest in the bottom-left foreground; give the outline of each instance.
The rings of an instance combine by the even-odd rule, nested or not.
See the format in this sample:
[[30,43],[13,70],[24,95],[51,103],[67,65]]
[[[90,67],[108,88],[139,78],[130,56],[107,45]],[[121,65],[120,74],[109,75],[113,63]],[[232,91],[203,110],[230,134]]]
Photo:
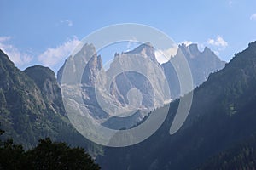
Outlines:
[[28,150],[26,156],[32,169],[100,169],[83,148],[70,148],[49,138],[40,139],[38,146]]

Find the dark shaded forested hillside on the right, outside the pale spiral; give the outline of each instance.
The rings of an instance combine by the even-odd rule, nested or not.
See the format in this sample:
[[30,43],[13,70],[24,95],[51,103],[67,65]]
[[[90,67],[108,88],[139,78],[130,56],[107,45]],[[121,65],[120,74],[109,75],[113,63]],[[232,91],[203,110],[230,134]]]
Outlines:
[[170,104],[166,122],[149,139],[106,149],[105,156],[98,157],[102,168],[195,169],[255,134],[256,42],[195,89],[186,122],[170,135],[178,102]]

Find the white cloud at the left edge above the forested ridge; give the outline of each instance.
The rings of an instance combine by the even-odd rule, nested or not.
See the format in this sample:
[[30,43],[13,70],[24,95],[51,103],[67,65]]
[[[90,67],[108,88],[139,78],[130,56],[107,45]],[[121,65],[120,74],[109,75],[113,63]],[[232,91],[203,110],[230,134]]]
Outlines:
[[22,67],[29,64],[32,61],[32,56],[20,52],[18,48],[15,48],[15,46],[9,43],[10,39],[11,37],[0,37],[0,49],[9,56],[9,59],[12,60],[16,66]]

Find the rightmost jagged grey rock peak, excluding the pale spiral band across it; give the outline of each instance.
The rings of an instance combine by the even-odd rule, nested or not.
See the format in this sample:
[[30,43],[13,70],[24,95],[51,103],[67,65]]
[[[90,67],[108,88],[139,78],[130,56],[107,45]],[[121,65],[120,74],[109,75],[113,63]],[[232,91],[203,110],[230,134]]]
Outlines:
[[162,64],[165,70],[171,89],[172,99],[180,96],[180,85],[177,73],[173,67],[172,60],[184,56],[189,64],[191,75],[193,77],[194,88],[207,80],[210,73],[224,68],[225,62],[221,61],[210,48],[205,48],[203,52],[199,51],[197,44],[178,46],[177,54],[170,59],[170,62]]

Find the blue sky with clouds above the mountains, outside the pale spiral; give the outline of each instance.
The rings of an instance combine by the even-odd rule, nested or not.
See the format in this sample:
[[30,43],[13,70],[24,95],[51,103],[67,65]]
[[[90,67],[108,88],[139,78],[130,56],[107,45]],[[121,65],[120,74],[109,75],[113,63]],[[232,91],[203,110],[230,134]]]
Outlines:
[[119,23],[153,26],[229,61],[256,40],[256,1],[1,0],[0,23],[0,48],[21,69],[41,64],[56,70],[83,37]]

